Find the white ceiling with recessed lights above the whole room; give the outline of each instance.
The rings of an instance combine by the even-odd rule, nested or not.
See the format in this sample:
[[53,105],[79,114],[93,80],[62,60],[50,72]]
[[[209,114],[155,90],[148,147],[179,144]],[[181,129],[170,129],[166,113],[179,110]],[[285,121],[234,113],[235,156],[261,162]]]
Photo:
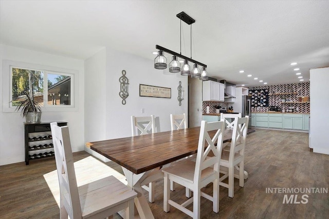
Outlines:
[[[246,87],[277,85],[299,83],[297,72],[308,82],[309,69],[329,66],[329,1],[0,4],[0,43],[46,53],[86,59],[109,47],[148,58],[153,65],[155,45],[179,53],[176,14],[184,11],[196,20],[192,58],[208,66],[209,76]],[[181,53],[186,56],[190,37],[190,26],[182,23]],[[169,63],[169,54],[167,59]],[[290,66],[292,62],[298,64]]]

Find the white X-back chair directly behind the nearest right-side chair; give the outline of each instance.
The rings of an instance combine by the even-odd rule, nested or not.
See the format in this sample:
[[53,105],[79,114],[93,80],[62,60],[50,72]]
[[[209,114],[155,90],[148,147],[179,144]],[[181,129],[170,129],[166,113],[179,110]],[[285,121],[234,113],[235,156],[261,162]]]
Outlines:
[[[239,169],[239,186],[244,187],[244,158],[249,116],[233,121],[233,133],[230,150],[222,150],[220,186],[228,188],[228,196],[234,196],[234,168]],[[228,183],[223,181],[228,178]]]

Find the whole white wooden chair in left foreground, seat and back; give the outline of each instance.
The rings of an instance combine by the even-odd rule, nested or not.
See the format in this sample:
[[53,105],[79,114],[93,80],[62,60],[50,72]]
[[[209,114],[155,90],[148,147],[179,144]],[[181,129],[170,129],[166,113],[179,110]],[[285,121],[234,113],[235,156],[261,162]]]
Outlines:
[[60,218],[104,218],[125,210],[134,217],[137,193],[114,176],[77,186],[70,136],[67,126],[50,123],[60,186]]

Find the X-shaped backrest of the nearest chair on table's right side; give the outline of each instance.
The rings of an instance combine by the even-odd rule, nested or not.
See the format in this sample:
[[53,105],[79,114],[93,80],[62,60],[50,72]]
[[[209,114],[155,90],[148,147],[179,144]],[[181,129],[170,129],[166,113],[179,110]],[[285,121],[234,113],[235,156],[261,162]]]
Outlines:
[[[215,174],[218,174],[219,177],[224,124],[223,120],[212,123],[207,121],[201,122],[195,160],[194,183],[200,183],[202,170],[208,167],[213,167]],[[211,138],[208,132],[213,130],[216,130],[216,133]],[[209,156],[210,154],[211,156]]]

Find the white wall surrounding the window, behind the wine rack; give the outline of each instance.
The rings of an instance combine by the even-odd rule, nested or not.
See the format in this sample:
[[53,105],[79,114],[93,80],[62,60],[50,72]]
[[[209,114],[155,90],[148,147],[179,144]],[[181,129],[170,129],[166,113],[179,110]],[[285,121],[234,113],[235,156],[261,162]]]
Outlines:
[[3,97],[9,95],[9,90],[3,89],[3,61],[25,62],[36,65],[50,66],[61,69],[77,70],[75,76],[75,110],[66,112],[51,112],[44,110],[42,122],[66,121],[69,123],[72,150],[83,150],[84,146],[84,61],[59,55],[36,52],[7,45],[0,45],[1,101],[0,101],[0,165],[24,161],[24,125],[25,118],[19,112],[4,112]]

